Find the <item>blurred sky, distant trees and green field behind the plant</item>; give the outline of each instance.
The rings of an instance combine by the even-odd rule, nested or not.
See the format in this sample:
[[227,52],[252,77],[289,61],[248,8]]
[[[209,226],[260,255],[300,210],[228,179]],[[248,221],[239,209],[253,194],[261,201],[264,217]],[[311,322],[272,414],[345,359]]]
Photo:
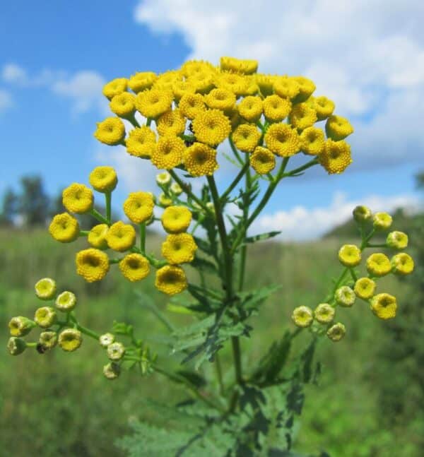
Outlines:
[[[353,207],[389,211],[394,230],[410,236],[416,273],[381,282],[380,291],[398,297],[393,322],[348,309],[343,342],[319,346],[323,374],[319,386],[307,387],[295,444],[332,457],[423,456],[423,20],[419,1],[2,2],[0,343],[6,344],[11,316],[33,315],[35,281],[52,275],[78,294],[86,326],[103,332],[112,319],[128,321],[156,345],[162,328],[137,302],[134,287],[117,272],[101,284],[84,283],[73,263],[83,242],[54,242],[46,224],[61,210],[61,189],[87,183],[97,165],[117,170],[118,216],[129,191],[158,192],[151,165],[93,138],[95,123],[109,114],[107,81],[160,73],[187,59],[257,59],[262,73],[312,78],[316,94],[334,100],[335,113],[348,117],[355,133],[346,172],[328,176],[316,167],[283,181],[252,227],[252,235],[281,230],[281,236],[249,252],[247,283],[280,282],[283,292],[252,321],[244,362],[283,334],[293,307],[314,306],[326,295],[338,275],[338,247],[358,242],[349,222]],[[232,172],[222,160],[218,184]],[[91,221],[82,223],[88,228]],[[152,250],[162,239],[156,229],[148,238]],[[165,307],[153,278],[137,287]],[[166,355],[158,345],[161,351]],[[114,441],[129,432],[131,417],[155,420],[144,399],[184,398],[158,376],[129,372],[109,383],[103,364],[91,341],[74,354],[27,351],[12,358],[1,351],[0,456],[123,456]]]

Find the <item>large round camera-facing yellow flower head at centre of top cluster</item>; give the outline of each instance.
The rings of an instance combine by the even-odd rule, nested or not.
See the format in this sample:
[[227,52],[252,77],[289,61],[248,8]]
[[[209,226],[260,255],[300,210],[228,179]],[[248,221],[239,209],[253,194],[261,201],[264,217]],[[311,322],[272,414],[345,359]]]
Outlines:
[[201,111],[193,119],[193,131],[197,141],[218,146],[231,132],[230,119],[219,109]]

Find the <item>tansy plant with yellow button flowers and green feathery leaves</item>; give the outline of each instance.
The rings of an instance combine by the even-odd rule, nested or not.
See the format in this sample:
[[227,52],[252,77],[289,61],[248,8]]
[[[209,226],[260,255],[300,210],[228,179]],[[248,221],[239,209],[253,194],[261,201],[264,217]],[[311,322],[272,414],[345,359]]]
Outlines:
[[[257,61],[230,57],[221,58],[218,67],[187,61],[175,71],[147,71],[107,83],[103,93],[114,116],[98,123],[94,136],[110,146],[122,145],[129,155],[157,167],[160,194],[143,189],[129,194],[123,208],[128,220],[114,221],[111,196],[117,174],[112,167],[97,167],[88,181],[104,194],[105,214],[94,209],[90,187],[73,183],[63,191],[67,212],[55,215],[49,225],[59,242],[86,237],[87,248],[76,254],[76,272],[88,282],[104,279],[110,268],[119,268],[134,283],[155,275],[155,287],[170,296],[167,311],[187,314],[192,320],[175,328],[164,311],[155,308],[169,331],[161,341],[182,367],[169,369],[172,364],[136,338],[129,324],[115,322],[105,333],[81,325],[77,311],[84,304],[50,278],[35,285],[43,306],[33,319],[17,316],[9,323],[12,355],[26,348],[42,353],[57,345],[71,352],[86,338],[94,338],[109,360],[103,367],[107,379],[139,366],[143,375],[167,376],[187,389],[189,399],[166,412],[155,403],[154,408],[162,408],[158,425],[139,422],[134,436],[121,441],[133,456],[292,455],[302,386],[318,374],[319,365],[313,362],[317,340],[341,340],[346,327],[338,315],[343,315],[343,308],[359,307],[358,300],[380,319],[393,318],[396,297],[377,292],[377,282],[390,273],[413,271],[413,260],[403,251],[407,235],[389,232],[384,243],[371,244],[375,234],[389,229],[391,218],[358,206],[353,217],[362,241],[338,251],[343,270],[329,294],[322,302],[295,308],[297,328],[282,333],[259,361],[242,366],[240,340],[252,333],[250,318],[278,289],[278,285],[245,287],[247,247],[278,235],[249,236],[249,227],[284,179],[316,165],[338,174],[352,162],[346,138],[353,127],[334,114],[334,102],[313,95],[315,85],[308,78],[258,73],[257,66]],[[229,153],[217,150],[224,142]],[[295,155],[305,162],[290,167]],[[238,170],[219,192],[215,174],[224,160]],[[201,191],[194,191],[200,189],[192,186],[194,179],[204,183]],[[239,208],[237,215],[234,210],[228,213],[230,204]],[[82,230],[75,214],[83,213],[90,213],[98,225]],[[153,221],[160,221],[167,232],[159,259],[146,250],[146,225]],[[383,253],[365,257],[365,249],[376,246],[399,252],[391,259]],[[358,273],[362,261],[366,276]],[[199,283],[187,280],[187,266],[199,272]],[[211,280],[213,275],[218,282]],[[366,307],[360,312],[366,313]],[[26,340],[37,327],[38,339]],[[289,358],[300,331],[310,333],[310,343]],[[220,361],[226,345],[232,347],[232,367]],[[215,365],[215,378],[199,371],[204,362]],[[175,427],[166,429],[170,421]]]

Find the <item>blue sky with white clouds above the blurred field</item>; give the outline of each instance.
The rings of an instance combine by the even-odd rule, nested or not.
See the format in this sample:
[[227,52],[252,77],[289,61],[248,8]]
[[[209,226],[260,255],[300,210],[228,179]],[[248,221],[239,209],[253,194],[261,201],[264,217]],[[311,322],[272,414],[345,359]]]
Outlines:
[[0,193],[37,173],[57,194],[87,182],[96,165],[117,167],[118,202],[152,186],[153,168],[93,138],[107,115],[102,84],[232,55],[258,59],[264,73],[311,77],[355,126],[353,165],[340,176],[319,169],[283,182],[257,230],[307,238],[341,222],[356,203],[374,210],[416,204],[413,175],[424,168],[420,2],[389,1],[387,11],[380,0],[280,3],[264,1],[258,11],[239,0],[213,7],[203,0],[4,2]]

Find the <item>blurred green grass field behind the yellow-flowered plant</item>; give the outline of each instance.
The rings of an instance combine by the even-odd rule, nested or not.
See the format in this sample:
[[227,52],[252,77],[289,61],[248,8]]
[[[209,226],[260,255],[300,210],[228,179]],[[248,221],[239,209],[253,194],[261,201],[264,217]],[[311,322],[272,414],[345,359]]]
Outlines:
[[[158,238],[150,238],[148,243],[157,249]],[[246,284],[281,283],[283,287],[250,322],[254,327],[252,338],[242,341],[245,367],[251,366],[285,328],[292,327],[293,307],[314,307],[324,299],[331,277],[341,268],[336,256],[341,244],[343,241],[335,239],[263,243],[249,250]],[[145,339],[172,364],[167,348],[155,338],[164,330],[163,324],[134,297],[134,290],[141,290],[165,309],[167,297],[154,289],[154,275],[132,285],[113,268],[102,283],[86,284],[76,275],[73,259],[78,247],[84,245],[83,240],[59,244],[45,230],[0,231],[1,345],[5,346],[8,339],[8,320],[17,315],[32,317],[40,306],[33,293],[36,280],[51,276],[61,290],[73,290],[78,295],[76,313],[81,324],[99,333],[109,331],[113,319],[134,324],[137,338]],[[196,271],[189,275],[197,280]],[[382,279],[378,290],[398,297],[399,314],[413,293],[409,278],[399,281],[392,276]],[[169,317],[177,324],[189,319],[173,314]],[[323,374],[318,386],[307,386],[295,448],[304,453],[325,450],[331,457],[423,456],[418,448],[423,422],[406,420],[405,413],[400,413],[391,427],[382,420],[382,379],[402,376],[396,366],[380,360],[382,351],[393,349],[388,324],[373,316],[364,302],[341,309],[338,319],[346,324],[348,333],[340,343],[319,343],[317,357],[323,363]],[[296,344],[302,345],[305,340],[306,333]],[[223,350],[223,361],[230,368],[228,348]],[[186,398],[185,391],[156,374],[141,378],[134,370],[123,372],[117,381],[107,381],[102,376],[106,362],[100,346],[88,338],[73,353],[56,348],[45,355],[27,350],[19,357],[10,357],[1,350],[0,456],[119,457],[123,454],[114,440],[129,433],[131,417],[152,419],[146,398],[164,403]],[[206,364],[204,369],[213,368]],[[228,379],[232,375],[230,369],[225,373]],[[408,400],[413,403],[413,397]]]

